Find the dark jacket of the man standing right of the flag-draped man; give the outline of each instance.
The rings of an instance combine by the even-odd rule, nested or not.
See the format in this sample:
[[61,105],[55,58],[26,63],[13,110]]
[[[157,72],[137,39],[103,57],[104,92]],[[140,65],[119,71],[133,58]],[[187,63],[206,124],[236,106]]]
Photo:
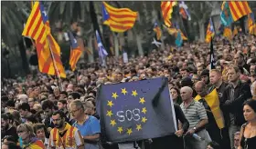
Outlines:
[[[230,97],[231,91],[234,89],[233,98]],[[242,125],[245,123],[243,116],[243,103],[251,98],[251,88],[249,84],[241,83],[233,88],[232,84],[227,85],[222,98],[220,100],[220,108],[224,114],[225,123],[230,125],[231,117],[233,124]]]

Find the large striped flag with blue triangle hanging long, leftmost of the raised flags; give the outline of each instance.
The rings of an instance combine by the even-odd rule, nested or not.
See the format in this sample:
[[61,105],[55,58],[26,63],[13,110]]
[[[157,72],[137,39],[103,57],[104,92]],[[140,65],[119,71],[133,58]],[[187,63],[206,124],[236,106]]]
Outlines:
[[41,2],[34,2],[22,35],[36,41],[38,66],[41,73],[66,77],[60,60],[60,48],[50,34],[48,15]]

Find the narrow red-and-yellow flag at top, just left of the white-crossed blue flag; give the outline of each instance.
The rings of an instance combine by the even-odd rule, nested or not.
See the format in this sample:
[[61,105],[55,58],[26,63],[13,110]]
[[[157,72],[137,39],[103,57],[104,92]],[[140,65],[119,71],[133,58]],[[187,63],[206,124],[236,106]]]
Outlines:
[[161,2],[162,15],[165,20],[165,25],[167,27],[171,27],[172,25],[170,19],[172,18],[172,13],[174,11],[173,7],[175,5],[177,5],[176,1]]

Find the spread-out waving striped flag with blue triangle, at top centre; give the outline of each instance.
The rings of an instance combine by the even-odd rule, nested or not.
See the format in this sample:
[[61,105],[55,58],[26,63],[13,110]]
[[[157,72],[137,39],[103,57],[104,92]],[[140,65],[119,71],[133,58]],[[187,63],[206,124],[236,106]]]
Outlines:
[[115,8],[103,2],[102,19],[104,25],[109,25],[113,32],[125,32],[135,24],[138,13],[129,8]]

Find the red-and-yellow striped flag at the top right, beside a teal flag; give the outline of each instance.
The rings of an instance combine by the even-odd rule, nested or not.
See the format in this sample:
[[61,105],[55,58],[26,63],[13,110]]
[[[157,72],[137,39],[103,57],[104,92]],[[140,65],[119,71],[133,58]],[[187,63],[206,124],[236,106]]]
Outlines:
[[229,8],[233,21],[237,21],[241,16],[251,13],[251,8],[247,1],[231,1],[229,2]]

